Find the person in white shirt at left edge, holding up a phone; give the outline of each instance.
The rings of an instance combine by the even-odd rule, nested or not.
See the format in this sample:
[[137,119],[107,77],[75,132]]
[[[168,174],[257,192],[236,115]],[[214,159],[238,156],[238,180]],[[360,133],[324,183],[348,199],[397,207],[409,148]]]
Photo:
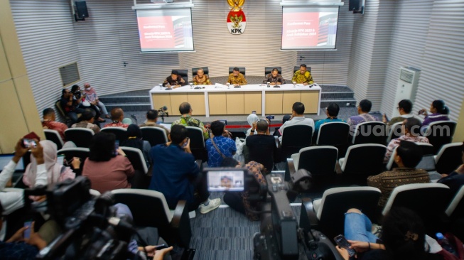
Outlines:
[[[14,158],[4,167],[4,170],[0,173],[0,203],[4,208],[4,215],[20,209],[24,205],[23,190],[5,190],[6,184],[11,180],[11,176],[14,173],[16,164],[23,157],[23,155],[29,150],[21,145],[22,140],[16,143]],[[32,155],[37,160],[37,175],[36,175],[36,186],[47,185],[47,171],[45,169],[45,162],[43,161],[43,148],[41,143],[36,141],[37,146],[31,148]]]

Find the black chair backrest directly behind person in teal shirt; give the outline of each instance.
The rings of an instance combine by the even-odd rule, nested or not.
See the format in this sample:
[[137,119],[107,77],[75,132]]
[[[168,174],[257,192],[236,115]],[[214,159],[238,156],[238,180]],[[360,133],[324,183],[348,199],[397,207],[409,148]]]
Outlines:
[[350,125],[345,122],[327,122],[320,126],[317,146],[339,146],[348,143]]

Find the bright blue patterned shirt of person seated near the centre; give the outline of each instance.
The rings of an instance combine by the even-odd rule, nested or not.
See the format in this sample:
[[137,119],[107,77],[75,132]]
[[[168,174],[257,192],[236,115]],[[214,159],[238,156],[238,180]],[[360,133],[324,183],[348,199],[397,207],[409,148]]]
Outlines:
[[[215,136],[214,141],[217,148],[224,154],[225,157],[232,157],[232,153],[237,151],[235,146],[235,141],[224,137],[224,136]],[[222,156],[216,151],[215,146],[212,145],[211,139],[206,140],[206,150],[207,150],[207,166],[209,167],[220,167],[222,163]]]

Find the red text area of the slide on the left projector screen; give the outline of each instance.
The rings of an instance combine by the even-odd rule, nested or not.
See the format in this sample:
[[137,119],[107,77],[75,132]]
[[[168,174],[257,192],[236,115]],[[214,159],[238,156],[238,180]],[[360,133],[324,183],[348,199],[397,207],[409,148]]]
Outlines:
[[176,46],[171,16],[138,17],[137,21],[142,50]]

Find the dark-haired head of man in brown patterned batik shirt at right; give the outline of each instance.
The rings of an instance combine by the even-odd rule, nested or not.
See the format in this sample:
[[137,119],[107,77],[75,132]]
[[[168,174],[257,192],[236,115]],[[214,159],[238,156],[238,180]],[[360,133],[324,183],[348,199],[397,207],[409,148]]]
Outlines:
[[394,156],[399,167],[416,168],[422,160],[422,149],[416,143],[401,140]]

